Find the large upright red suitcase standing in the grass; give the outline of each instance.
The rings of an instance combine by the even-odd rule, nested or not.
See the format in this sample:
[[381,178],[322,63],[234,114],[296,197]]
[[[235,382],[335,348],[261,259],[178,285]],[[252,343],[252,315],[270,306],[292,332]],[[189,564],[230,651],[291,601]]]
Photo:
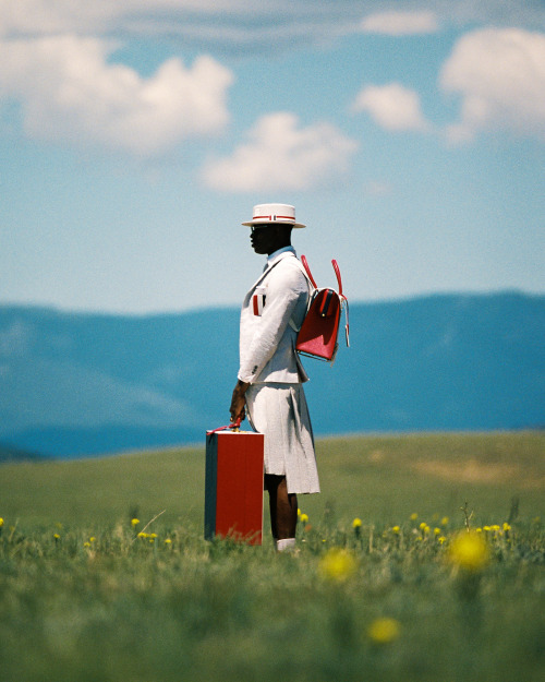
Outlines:
[[263,433],[206,433],[205,538],[263,540]]

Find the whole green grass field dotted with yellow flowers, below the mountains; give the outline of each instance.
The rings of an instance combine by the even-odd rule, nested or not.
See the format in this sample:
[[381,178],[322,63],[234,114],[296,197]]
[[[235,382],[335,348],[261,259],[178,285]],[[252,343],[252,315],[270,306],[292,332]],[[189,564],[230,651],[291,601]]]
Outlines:
[[317,454],[296,555],[203,539],[204,447],[0,466],[0,681],[541,681],[545,434]]

